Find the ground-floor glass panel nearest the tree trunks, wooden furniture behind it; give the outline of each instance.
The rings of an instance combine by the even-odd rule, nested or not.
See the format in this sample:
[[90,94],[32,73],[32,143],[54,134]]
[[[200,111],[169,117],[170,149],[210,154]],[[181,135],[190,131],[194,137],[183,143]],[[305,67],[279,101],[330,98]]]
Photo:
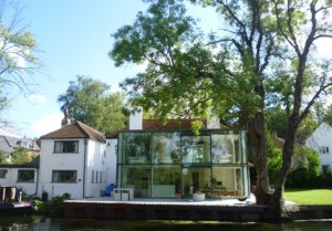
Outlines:
[[[214,167],[212,192],[216,198],[243,196],[245,185],[240,167]],[[247,187],[246,187],[247,188]]]

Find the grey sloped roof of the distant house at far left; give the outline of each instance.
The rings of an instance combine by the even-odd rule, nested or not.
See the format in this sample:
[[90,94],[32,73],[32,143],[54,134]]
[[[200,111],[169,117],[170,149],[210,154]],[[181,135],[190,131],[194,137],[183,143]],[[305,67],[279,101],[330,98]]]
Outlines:
[[29,150],[39,151],[40,147],[37,145],[35,140],[29,138],[19,138],[10,136],[0,136],[0,150],[11,154],[17,147],[24,147]]

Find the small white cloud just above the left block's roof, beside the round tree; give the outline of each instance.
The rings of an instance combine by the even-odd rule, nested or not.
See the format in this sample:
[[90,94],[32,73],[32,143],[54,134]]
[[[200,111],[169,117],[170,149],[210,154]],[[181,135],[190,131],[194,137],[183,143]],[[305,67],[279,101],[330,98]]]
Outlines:
[[52,114],[45,115],[40,120],[31,125],[31,129],[34,134],[43,136],[61,127],[61,120],[63,119],[63,114],[61,112],[54,112]]

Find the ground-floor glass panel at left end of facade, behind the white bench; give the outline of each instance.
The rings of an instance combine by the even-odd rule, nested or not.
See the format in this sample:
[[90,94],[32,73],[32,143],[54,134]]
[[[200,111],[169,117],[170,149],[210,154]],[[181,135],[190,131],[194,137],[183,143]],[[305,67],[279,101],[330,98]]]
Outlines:
[[133,188],[134,197],[151,197],[151,166],[123,166],[122,188]]

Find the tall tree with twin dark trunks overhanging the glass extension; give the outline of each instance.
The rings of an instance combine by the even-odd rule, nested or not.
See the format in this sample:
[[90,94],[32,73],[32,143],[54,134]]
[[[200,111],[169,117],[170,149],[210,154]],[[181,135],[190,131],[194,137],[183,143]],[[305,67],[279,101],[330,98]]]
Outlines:
[[[193,0],[214,6],[224,15],[222,33],[216,31],[209,42],[185,15],[181,1],[147,2],[151,7],[145,14],[139,12],[133,25],[114,34],[110,52],[117,65],[148,64],[144,73],[123,83],[133,103],[158,108],[156,114],[162,118],[206,118],[209,108],[220,115],[237,113],[238,125],[248,129],[255,158],[257,203],[269,206],[270,219],[282,219],[283,186],[299,125],[330,86],[329,65],[309,60],[313,42],[330,36],[329,24],[324,24],[329,22],[318,20],[320,13],[324,17],[329,2]],[[267,88],[269,83],[276,87]],[[304,95],[305,99],[312,96],[305,105]],[[288,123],[274,191],[270,190],[267,168],[268,96],[283,102]]]

